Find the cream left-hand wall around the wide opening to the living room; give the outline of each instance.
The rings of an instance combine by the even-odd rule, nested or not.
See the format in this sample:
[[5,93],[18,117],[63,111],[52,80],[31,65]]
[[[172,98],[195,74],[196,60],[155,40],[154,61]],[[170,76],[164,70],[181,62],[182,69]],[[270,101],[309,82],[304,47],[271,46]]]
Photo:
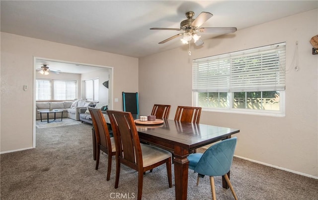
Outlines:
[[[113,109],[122,91],[138,91],[138,59],[1,32],[0,151],[32,148],[35,100],[33,57],[114,67]],[[23,85],[28,90],[23,91]]]

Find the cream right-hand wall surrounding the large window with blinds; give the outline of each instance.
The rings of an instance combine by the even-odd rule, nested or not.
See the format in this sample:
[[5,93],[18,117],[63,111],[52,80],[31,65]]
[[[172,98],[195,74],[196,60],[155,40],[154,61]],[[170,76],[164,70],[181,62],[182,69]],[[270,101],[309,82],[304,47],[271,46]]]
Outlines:
[[[192,59],[286,42],[286,117],[202,112],[200,123],[237,128],[235,154],[318,178],[318,55],[310,39],[318,34],[318,10],[289,16],[192,45],[139,59],[140,113],[155,103],[192,105]],[[293,69],[298,41],[299,71]]]

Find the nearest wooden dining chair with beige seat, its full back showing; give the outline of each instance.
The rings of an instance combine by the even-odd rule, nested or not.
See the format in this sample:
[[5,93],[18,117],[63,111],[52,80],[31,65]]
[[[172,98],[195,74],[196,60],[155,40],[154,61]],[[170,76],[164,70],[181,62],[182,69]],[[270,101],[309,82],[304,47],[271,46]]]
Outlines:
[[130,112],[107,110],[107,113],[116,145],[115,188],[118,188],[121,163],[138,171],[138,200],[142,197],[144,172],[164,163],[171,188],[171,153],[156,146],[141,144]]

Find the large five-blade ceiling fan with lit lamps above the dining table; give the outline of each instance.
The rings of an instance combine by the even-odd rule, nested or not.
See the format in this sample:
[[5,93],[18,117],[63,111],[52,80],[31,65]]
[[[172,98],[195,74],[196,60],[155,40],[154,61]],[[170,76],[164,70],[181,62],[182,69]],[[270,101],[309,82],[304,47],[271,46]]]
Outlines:
[[[194,44],[196,46],[203,45],[204,42],[200,39],[201,36],[198,36],[196,33],[234,33],[237,31],[236,27],[206,27],[200,28],[200,26],[210,19],[213,14],[210,12],[201,12],[197,18],[193,19],[194,16],[193,11],[189,11],[185,13],[187,19],[181,21],[180,28],[151,28],[150,30],[175,30],[175,31],[185,31],[183,33],[176,34],[168,39],[165,39],[159,44],[163,44],[168,42],[174,38],[179,36],[183,36],[181,38],[182,43],[188,44],[192,39],[194,40]],[[190,54],[190,52],[189,52]]]

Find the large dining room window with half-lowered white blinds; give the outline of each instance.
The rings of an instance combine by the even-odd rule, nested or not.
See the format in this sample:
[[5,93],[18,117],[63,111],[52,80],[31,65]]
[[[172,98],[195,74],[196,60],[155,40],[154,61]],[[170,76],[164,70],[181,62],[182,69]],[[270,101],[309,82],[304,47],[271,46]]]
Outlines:
[[203,110],[284,115],[286,43],[193,61],[195,106]]

